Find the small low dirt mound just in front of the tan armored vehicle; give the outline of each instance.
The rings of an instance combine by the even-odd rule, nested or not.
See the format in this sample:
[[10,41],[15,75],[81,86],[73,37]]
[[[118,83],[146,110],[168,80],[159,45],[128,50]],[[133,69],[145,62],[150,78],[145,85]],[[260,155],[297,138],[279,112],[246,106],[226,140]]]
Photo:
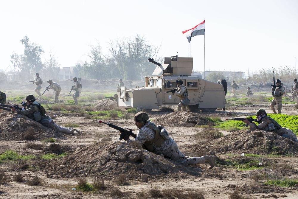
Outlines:
[[170,114],[160,116],[154,119],[155,124],[167,126],[180,126],[180,127],[194,127],[195,125],[214,125],[201,114],[176,111]]

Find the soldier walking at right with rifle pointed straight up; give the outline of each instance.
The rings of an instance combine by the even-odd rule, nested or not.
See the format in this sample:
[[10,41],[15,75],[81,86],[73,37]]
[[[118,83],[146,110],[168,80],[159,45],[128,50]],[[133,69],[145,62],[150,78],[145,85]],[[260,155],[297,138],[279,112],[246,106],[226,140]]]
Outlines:
[[283,101],[283,94],[285,94],[285,89],[281,85],[280,80],[276,80],[276,86],[272,88],[272,95],[274,99],[272,100],[270,104],[270,108],[273,111],[273,114],[276,114],[275,105],[277,106],[277,113],[281,114],[281,107],[282,107],[282,101]]

